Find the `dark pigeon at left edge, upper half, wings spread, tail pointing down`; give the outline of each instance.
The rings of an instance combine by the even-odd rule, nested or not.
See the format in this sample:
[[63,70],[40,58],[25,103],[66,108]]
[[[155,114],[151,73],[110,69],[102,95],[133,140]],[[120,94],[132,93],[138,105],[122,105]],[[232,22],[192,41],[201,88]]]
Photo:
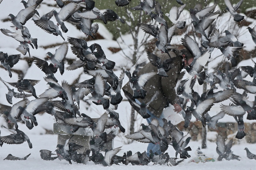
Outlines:
[[9,55],[7,53],[0,53],[0,62],[5,70],[9,72],[9,77],[12,78],[11,68],[19,62],[20,54]]

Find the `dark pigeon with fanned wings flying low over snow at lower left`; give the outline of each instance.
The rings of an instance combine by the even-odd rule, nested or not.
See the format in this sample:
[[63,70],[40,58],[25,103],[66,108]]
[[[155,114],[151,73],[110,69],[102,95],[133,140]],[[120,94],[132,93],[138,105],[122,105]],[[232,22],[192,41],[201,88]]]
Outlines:
[[6,144],[22,144],[25,141],[28,142],[28,146],[31,149],[32,148],[32,143],[30,142],[28,136],[18,129],[18,124],[15,123],[15,130],[17,134],[10,134],[8,136],[2,136],[1,140],[6,143]]

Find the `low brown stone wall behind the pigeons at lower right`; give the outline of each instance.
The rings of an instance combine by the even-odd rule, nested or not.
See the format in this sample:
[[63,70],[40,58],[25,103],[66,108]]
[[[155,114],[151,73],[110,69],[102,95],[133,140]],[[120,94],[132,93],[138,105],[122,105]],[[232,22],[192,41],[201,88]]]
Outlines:
[[[176,125],[181,131],[188,131],[192,137],[192,140],[202,139],[202,123],[200,121],[190,122],[188,128],[184,128],[184,122],[180,122]],[[256,122],[244,123],[244,132],[246,133],[245,140],[247,143],[256,143]],[[208,128],[208,132],[216,132],[228,138],[228,136],[235,137],[237,133],[236,122],[219,122],[216,125],[216,129]]]

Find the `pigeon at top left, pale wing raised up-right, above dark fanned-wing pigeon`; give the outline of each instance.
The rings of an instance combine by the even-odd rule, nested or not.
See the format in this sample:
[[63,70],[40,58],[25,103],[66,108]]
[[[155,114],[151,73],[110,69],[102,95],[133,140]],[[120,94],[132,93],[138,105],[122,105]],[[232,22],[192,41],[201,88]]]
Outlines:
[[73,13],[75,13],[78,7],[79,5],[76,3],[69,3],[63,6],[59,12],[53,10],[57,25],[60,25],[60,28],[64,33],[68,32],[68,28],[65,26],[64,21],[66,21]]

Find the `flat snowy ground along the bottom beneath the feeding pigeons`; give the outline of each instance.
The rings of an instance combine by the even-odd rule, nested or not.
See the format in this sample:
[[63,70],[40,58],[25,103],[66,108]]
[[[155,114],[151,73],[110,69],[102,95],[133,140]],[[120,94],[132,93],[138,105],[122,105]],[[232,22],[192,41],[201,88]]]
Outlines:
[[[4,144],[2,148],[0,148],[0,165],[1,169],[24,169],[24,170],[53,170],[53,169],[69,169],[69,170],[82,170],[82,169],[116,169],[116,168],[122,168],[123,170],[130,170],[131,168],[133,170],[142,170],[142,169],[148,169],[148,170],[154,170],[156,168],[161,168],[163,170],[165,169],[177,169],[177,170],[193,170],[193,169],[206,169],[207,170],[218,170],[218,169],[225,169],[225,170],[234,170],[234,169],[243,169],[243,170],[254,170],[256,162],[255,160],[250,160],[246,157],[246,152],[244,150],[245,147],[249,148],[249,150],[253,153],[256,153],[256,144],[247,144],[243,140],[240,142],[240,144],[234,145],[231,150],[234,152],[234,154],[239,155],[241,158],[240,161],[238,160],[222,160],[220,162],[206,162],[206,163],[187,163],[191,158],[196,157],[196,149],[198,146],[200,146],[200,141],[195,142],[191,141],[189,143],[189,146],[192,148],[192,151],[189,151],[189,154],[191,155],[191,158],[186,159],[184,162],[181,162],[178,166],[169,167],[166,165],[152,165],[152,163],[149,163],[148,166],[132,166],[131,164],[125,166],[125,165],[113,165],[110,167],[104,167],[102,165],[94,165],[93,162],[88,162],[86,165],[84,164],[76,164],[76,162],[73,162],[72,165],[69,165],[67,161],[59,159],[55,159],[53,161],[45,161],[41,159],[39,150],[41,149],[48,149],[51,151],[54,151],[57,144],[57,136],[56,135],[33,135],[28,134],[31,142],[33,144],[33,148],[29,149],[28,144],[25,142],[20,145],[7,145]],[[117,154],[122,156],[124,152],[127,152],[131,150],[133,153],[135,152],[144,152],[144,150],[147,147],[147,144],[142,144],[138,142],[133,142],[132,144],[124,144],[122,141],[120,141],[118,138],[115,139],[114,142],[114,148],[123,146],[122,150]],[[203,149],[202,151],[205,153],[208,157],[218,158],[218,154],[215,151],[216,144],[212,142],[207,142],[207,149]],[[175,156],[175,151],[172,147],[169,147],[167,152],[170,154],[170,156]],[[27,160],[3,160],[9,153],[11,153],[14,156],[17,157],[24,157],[31,153],[31,155],[28,157]]]

